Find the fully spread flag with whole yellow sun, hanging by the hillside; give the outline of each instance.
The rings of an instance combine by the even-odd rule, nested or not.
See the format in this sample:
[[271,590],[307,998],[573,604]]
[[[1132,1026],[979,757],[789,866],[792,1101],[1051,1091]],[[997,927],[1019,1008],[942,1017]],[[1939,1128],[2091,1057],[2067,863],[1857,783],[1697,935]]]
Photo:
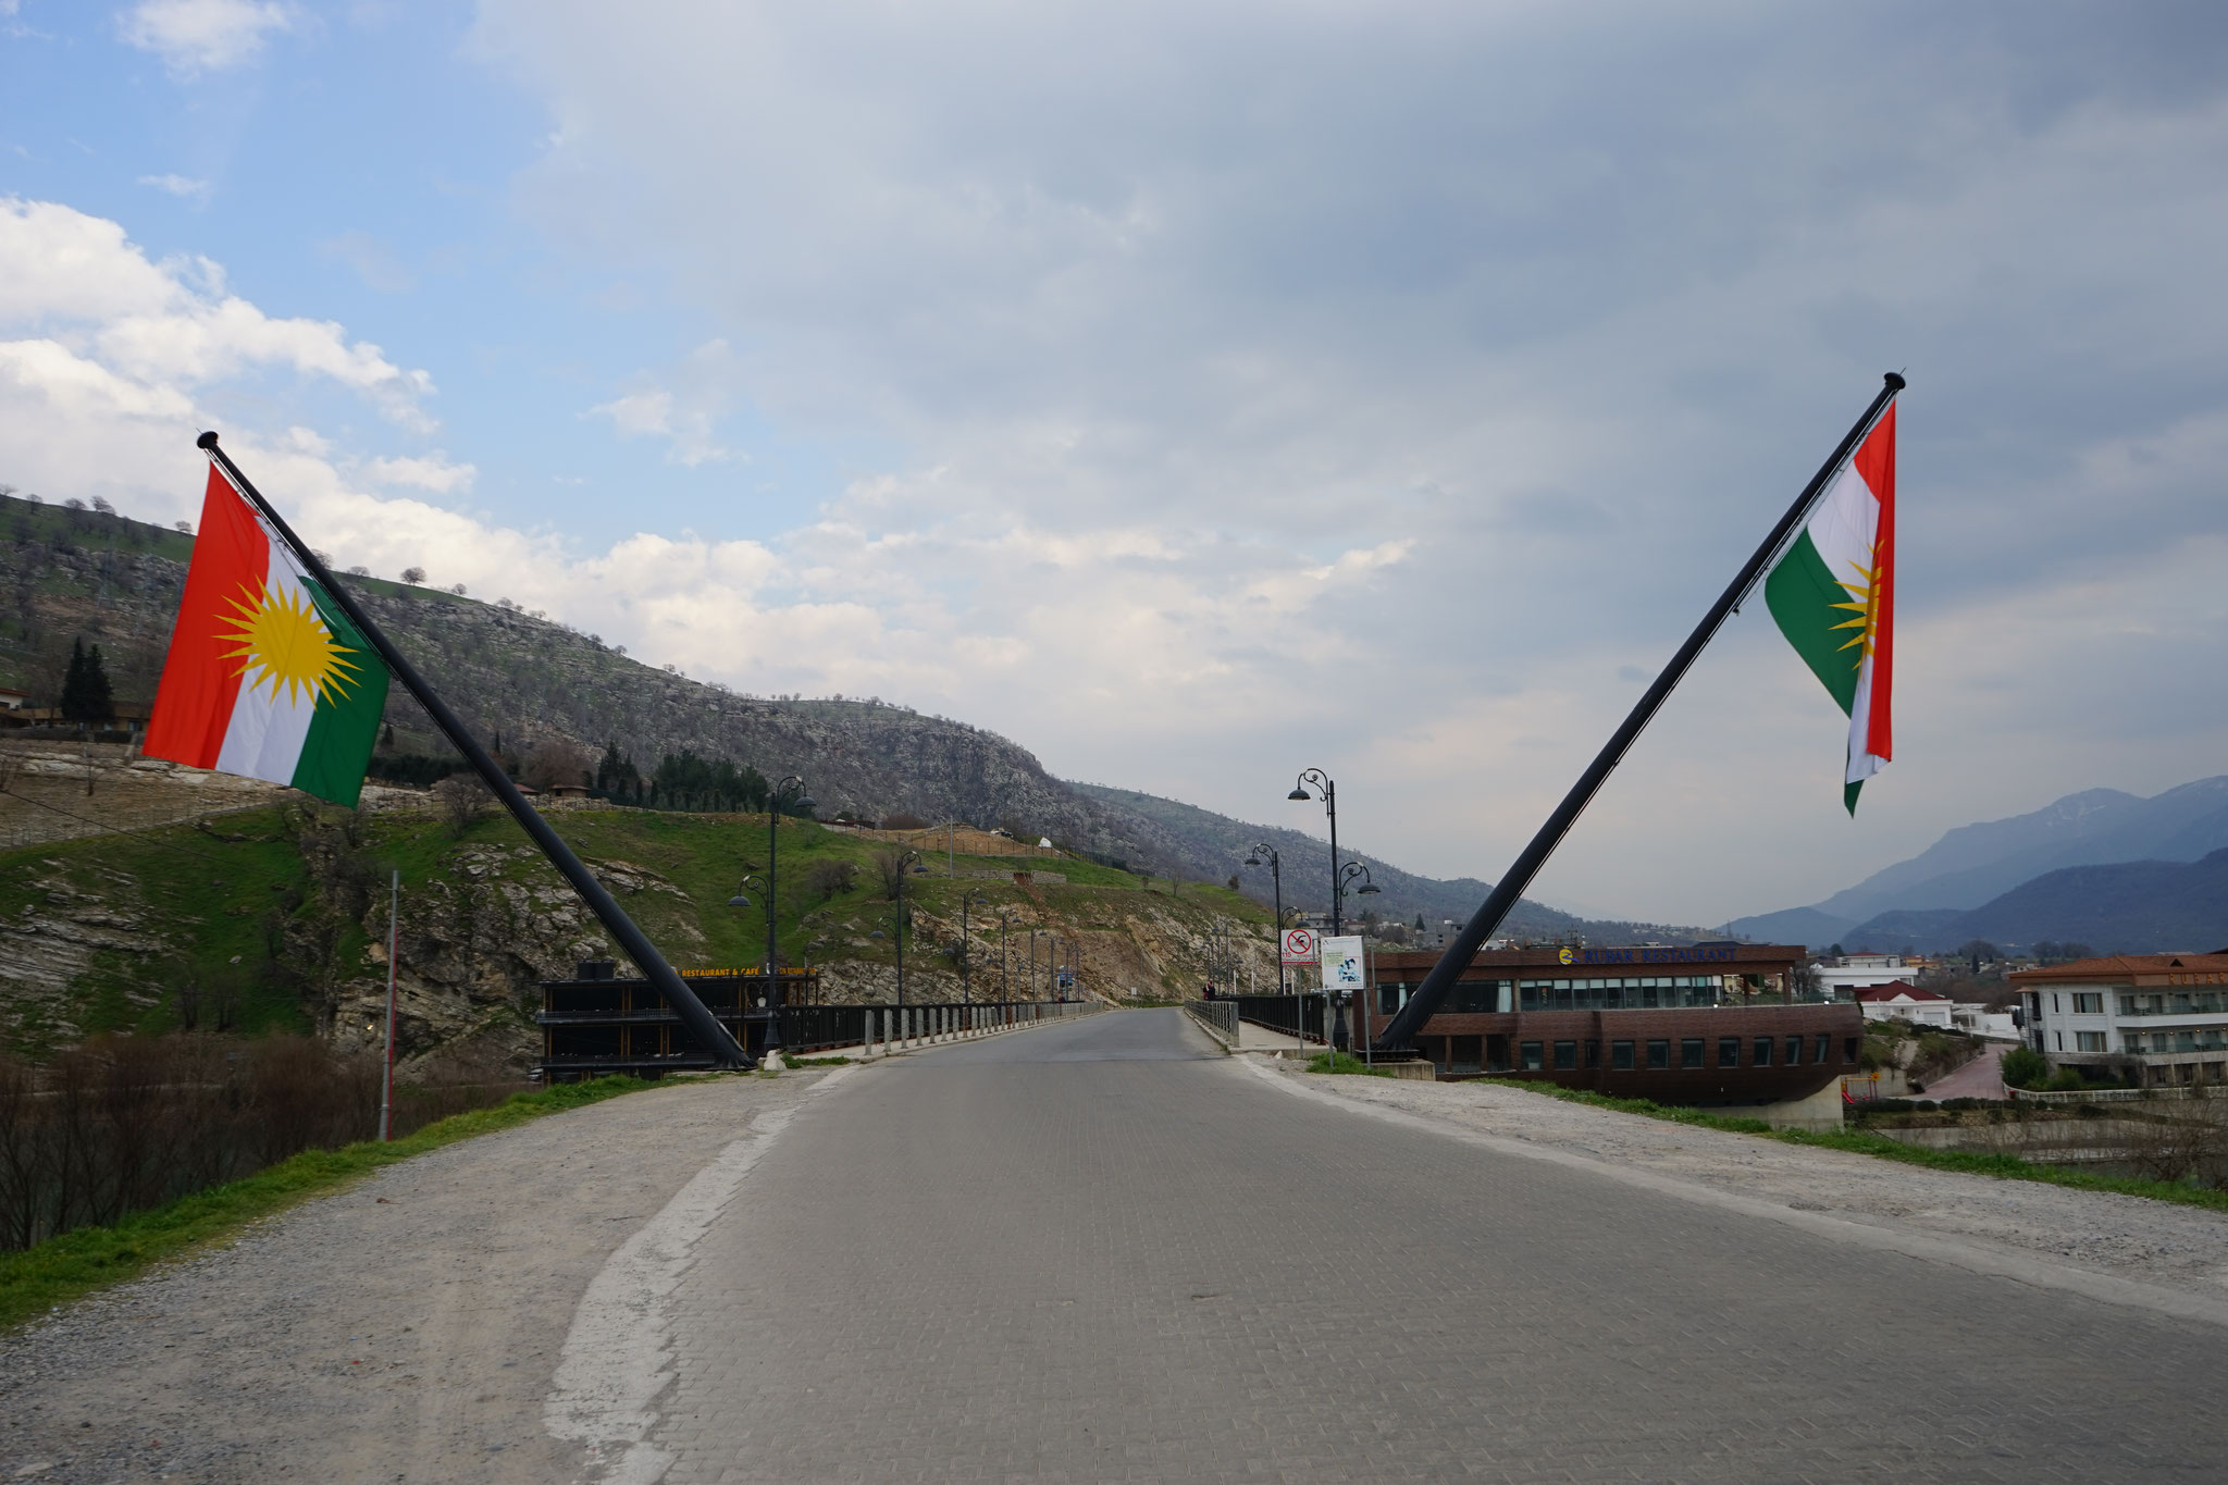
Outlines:
[[143,753],[352,806],[385,704],[372,646],[212,461]]

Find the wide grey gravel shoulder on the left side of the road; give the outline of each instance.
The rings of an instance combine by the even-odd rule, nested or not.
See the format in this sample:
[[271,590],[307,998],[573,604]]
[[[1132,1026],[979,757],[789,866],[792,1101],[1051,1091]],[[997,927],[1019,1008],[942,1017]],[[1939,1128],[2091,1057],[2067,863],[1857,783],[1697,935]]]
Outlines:
[[388,1167],[0,1338],[0,1481],[568,1481],[606,1258],[818,1073],[631,1093]]

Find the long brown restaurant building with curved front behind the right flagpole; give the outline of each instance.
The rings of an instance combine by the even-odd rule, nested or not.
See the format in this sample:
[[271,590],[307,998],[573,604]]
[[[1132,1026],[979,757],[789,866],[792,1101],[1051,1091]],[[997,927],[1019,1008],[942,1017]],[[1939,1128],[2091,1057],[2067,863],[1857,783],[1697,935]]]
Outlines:
[[[1417,1051],[1439,1078],[1506,1075],[1669,1104],[1776,1104],[1858,1071],[1863,1013],[1798,1002],[1791,944],[1488,948]],[[1375,955],[1361,1037],[1399,1011],[1435,953]]]

